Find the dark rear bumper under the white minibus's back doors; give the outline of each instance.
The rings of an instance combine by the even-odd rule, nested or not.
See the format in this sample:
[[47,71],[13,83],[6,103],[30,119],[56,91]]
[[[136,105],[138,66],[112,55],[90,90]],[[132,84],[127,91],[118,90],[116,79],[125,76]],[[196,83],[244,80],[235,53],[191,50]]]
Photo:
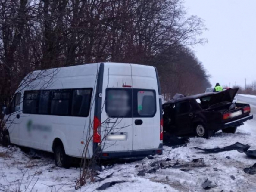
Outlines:
[[151,150],[132,150],[132,151],[117,151],[117,152],[101,152],[99,154],[101,159],[136,159],[136,158],[144,158],[149,155],[161,155],[163,153],[163,144],[160,144],[157,149]]

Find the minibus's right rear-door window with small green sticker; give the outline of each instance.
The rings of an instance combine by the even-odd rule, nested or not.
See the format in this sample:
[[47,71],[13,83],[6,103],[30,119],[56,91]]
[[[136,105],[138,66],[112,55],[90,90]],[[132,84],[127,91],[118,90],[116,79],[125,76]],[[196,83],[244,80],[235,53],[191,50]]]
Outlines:
[[133,91],[137,94],[137,114],[135,117],[153,117],[156,113],[156,96],[154,90],[137,90]]

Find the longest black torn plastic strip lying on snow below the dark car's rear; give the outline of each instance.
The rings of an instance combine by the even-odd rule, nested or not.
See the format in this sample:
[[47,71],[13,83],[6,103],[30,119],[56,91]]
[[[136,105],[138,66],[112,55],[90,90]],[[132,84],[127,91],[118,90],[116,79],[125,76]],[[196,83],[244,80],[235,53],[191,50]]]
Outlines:
[[204,151],[205,153],[219,153],[219,152],[223,152],[223,151],[231,151],[231,150],[244,150],[246,148],[250,147],[248,144],[244,145],[242,143],[236,142],[233,145],[229,145],[226,147],[216,147],[216,148],[212,148],[212,149],[202,149],[199,147],[194,147],[197,150],[201,150]]

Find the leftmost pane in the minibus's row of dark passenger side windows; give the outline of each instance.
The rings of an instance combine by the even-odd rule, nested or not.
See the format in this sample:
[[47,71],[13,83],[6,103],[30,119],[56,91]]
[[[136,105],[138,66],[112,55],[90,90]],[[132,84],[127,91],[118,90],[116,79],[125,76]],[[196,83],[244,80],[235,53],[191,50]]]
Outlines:
[[23,113],[38,113],[39,91],[25,91],[23,101]]

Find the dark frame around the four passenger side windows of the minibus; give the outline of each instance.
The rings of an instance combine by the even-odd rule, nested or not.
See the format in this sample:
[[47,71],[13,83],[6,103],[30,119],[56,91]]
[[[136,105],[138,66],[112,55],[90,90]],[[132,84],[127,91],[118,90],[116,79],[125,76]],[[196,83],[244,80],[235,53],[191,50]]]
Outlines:
[[[89,95],[89,110],[86,113],[86,116],[84,115],[71,115],[71,110],[72,110],[72,104],[73,104],[73,91],[76,90],[90,90],[90,95]],[[39,97],[37,98],[37,110],[36,113],[24,113],[24,103],[25,103],[25,98],[26,94],[28,92],[39,92]],[[49,98],[48,98],[48,109],[47,113],[39,113],[39,101],[41,97],[42,91],[50,91],[49,92]],[[51,103],[52,103],[52,94],[55,92],[69,92],[69,99],[68,99],[68,114],[62,115],[62,114],[52,114],[51,113]],[[41,89],[41,90],[27,90],[24,91],[24,97],[23,97],[23,107],[22,107],[22,113],[24,114],[34,114],[34,115],[52,115],[52,116],[71,116],[71,117],[88,117],[90,115],[90,110],[91,110],[91,102],[92,102],[92,92],[93,88],[67,88],[67,89]]]

